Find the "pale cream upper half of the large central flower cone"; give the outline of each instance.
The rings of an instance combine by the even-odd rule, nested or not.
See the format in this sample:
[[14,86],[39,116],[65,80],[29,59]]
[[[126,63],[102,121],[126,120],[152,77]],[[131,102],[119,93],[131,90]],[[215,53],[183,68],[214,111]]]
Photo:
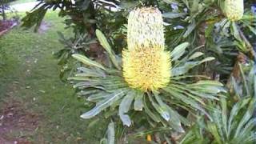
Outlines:
[[128,17],[127,42],[129,50],[150,45],[164,50],[165,38],[161,12],[153,7],[132,10]]

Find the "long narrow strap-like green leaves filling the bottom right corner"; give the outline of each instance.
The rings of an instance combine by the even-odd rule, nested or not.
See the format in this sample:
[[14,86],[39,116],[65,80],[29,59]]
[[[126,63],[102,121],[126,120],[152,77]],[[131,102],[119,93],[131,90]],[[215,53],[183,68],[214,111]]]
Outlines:
[[192,126],[180,143],[222,144],[256,141],[254,62],[244,67],[247,70],[240,69],[242,81],[237,82],[232,78],[230,94],[226,99],[221,98],[220,103],[213,104],[218,107],[217,110],[210,112],[213,119],[198,118],[198,122]]

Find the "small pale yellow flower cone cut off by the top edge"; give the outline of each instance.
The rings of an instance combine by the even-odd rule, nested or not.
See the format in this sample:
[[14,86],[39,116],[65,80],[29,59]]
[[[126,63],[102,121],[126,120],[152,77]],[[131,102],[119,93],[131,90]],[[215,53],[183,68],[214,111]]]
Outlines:
[[230,21],[238,21],[243,15],[243,0],[225,0],[224,13]]

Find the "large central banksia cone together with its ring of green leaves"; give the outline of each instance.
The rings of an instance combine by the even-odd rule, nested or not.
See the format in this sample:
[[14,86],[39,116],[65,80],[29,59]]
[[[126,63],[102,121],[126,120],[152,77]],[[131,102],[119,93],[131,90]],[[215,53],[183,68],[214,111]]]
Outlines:
[[[165,51],[162,14],[156,8],[142,7],[130,12],[128,48],[122,51],[122,57],[114,54],[100,30],[96,30],[96,35],[109,62],[104,65],[73,54],[84,66],[69,79],[79,90],[78,95],[86,97],[89,106],[92,103],[94,106],[81,118],[93,118],[104,111],[104,118],[113,120],[118,115],[124,126],[154,129],[167,126],[184,132],[182,126],[189,126],[190,122],[178,109],[208,115],[205,109],[210,107],[206,102],[218,99],[217,94],[223,90],[219,82],[184,80],[193,77],[186,76],[188,70],[214,58],[196,60],[202,54],[185,56],[188,42],[174,47],[171,52]],[[133,117],[130,118],[130,114]]]

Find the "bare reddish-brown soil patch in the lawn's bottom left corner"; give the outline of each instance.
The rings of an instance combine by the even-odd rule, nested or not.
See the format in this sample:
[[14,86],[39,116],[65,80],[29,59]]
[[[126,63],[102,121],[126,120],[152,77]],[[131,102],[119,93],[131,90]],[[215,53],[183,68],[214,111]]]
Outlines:
[[22,134],[16,137],[11,134],[35,130],[38,125],[37,115],[26,112],[21,103],[15,101],[6,103],[0,111],[0,143],[31,143]]

